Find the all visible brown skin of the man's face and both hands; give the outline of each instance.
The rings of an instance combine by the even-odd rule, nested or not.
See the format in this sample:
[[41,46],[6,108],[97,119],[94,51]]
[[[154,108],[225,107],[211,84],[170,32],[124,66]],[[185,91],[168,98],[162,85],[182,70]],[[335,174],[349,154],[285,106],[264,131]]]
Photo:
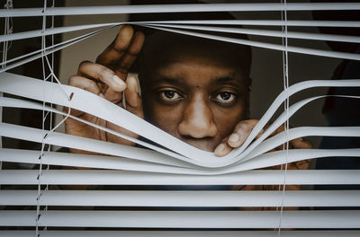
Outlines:
[[[127,78],[130,66],[141,50],[145,37],[132,27],[124,26],[112,44],[97,58],[95,63],[80,64],[77,75],[69,84],[93,92],[122,107],[122,92],[126,110],[145,118],[185,143],[218,156],[229,154],[231,149],[243,144],[257,119],[247,119],[249,80],[238,66],[239,62],[231,47],[181,43],[173,40],[165,44],[157,57],[148,60],[148,74],[139,84],[133,77]],[[233,57],[232,57],[233,56]],[[161,58],[166,58],[162,60]],[[127,78],[127,79],[126,79]],[[125,80],[126,79],[126,80]],[[81,111],[71,114],[85,118],[103,127],[130,133],[122,127]],[[275,133],[279,132],[277,130]],[[112,143],[133,145],[74,119],[66,121],[66,132]],[[296,148],[311,148],[302,138],[291,141]],[[282,147],[279,147],[282,149]],[[85,151],[71,150],[86,154]],[[88,154],[88,153],[87,153]]]

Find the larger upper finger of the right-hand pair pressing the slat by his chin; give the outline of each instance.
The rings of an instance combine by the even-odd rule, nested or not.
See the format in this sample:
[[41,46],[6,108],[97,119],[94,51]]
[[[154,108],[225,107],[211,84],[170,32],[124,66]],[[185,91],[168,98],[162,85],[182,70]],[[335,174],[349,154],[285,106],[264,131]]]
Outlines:
[[248,119],[239,122],[233,133],[229,136],[228,145],[234,148],[242,145],[251,133],[251,130],[257,125],[257,122],[257,119]]

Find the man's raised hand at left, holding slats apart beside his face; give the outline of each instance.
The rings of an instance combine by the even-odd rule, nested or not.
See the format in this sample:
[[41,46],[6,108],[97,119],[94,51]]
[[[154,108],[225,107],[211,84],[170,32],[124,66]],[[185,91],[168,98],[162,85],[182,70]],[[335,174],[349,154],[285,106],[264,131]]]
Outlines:
[[[138,31],[134,34],[131,26],[125,25],[103,53],[97,57],[96,63],[85,61],[78,68],[77,75],[69,78],[69,85],[79,87],[88,92],[93,92],[112,103],[122,107],[122,96],[124,92],[126,110],[143,118],[141,98],[139,96],[139,84],[134,77],[127,75],[130,66],[135,61],[144,43],[145,36]],[[65,109],[67,111],[67,108]],[[101,118],[96,118],[79,110],[71,110],[71,115],[83,118],[102,127],[108,127],[114,131],[137,138],[138,135],[130,131],[117,127]],[[67,134],[85,136],[102,141],[122,145],[133,145],[133,143],[121,139],[118,136],[106,133],[100,129],[85,125],[72,118],[67,118],[65,122]],[[94,154],[85,151],[71,149],[73,153]]]

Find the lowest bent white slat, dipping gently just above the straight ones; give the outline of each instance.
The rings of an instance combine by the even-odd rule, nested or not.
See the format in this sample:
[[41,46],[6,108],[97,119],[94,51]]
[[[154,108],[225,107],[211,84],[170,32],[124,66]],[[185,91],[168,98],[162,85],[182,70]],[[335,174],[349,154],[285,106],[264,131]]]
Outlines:
[[[289,158],[284,159],[284,155],[288,154]],[[238,165],[226,167],[223,169],[206,170],[195,168],[182,168],[169,165],[162,165],[153,162],[142,162],[139,160],[131,160],[119,156],[104,156],[90,154],[67,154],[57,152],[44,152],[41,158],[43,164],[87,167],[96,169],[110,169],[121,171],[152,171],[164,173],[178,174],[202,174],[217,175],[236,171],[248,171],[252,169],[260,169],[286,162],[298,162],[313,158],[326,158],[332,156],[338,157],[359,157],[360,148],[353,149],[296,149],[290,151],[277,151],[267,154],[261,154],[246,162]],[[23,162],[39,164],[39,151],[17,150],[17,149],[1,149],[0,161],[3,162]]]

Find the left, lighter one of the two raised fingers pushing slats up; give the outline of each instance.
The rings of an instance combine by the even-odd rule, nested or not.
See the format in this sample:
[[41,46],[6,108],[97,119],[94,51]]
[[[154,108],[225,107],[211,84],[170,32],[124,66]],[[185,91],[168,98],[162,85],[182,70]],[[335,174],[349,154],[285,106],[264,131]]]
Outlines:
[[97,57],[96,63],[105,66],[116,65],[129,47],[133,34],[134,30],[130,25],[122,26],[115,40]]

